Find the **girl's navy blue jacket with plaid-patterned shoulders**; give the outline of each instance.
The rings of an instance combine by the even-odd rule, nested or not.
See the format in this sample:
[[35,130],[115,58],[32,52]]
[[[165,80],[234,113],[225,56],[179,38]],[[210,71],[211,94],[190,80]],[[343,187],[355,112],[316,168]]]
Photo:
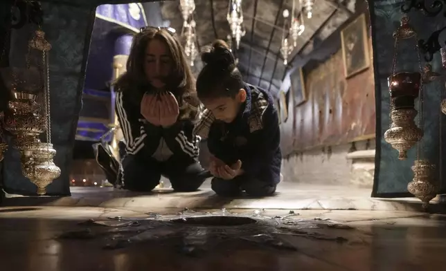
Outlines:
[[208,149],[226,165],[242,161],[244,174],[266,183],[280,182],[280,129],[274,100],[256,86],[246,84],[247,100],[229,124],[205,110],[195,133],[207,138]]

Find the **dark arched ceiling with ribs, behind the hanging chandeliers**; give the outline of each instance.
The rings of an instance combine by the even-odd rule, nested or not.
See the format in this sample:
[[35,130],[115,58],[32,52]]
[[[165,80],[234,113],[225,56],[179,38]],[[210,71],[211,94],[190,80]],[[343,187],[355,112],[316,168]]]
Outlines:
[[[355,0],[316,0],[313,17],[305,18],[305,31],[289,59],[297,53],[309,53],[314,42],[323,41],[337,30],[355,12]],[[229,24],[226,20],[229,0],[195,0],[194,19],[197,22],[199,46],[211,44],[215,39],[226,40]],[[246,35],[235,52],[245,80],[273,93],[278,91],[286,72],[280,55],[283,35],[283,10],[292,8],[292,0],[244,0],[242,10]],[[183,19],[179,1],[161,3],[161,14],[167,24],[181,32]],[[288,24],[289,27],[289,24]],[[287,32],[285,32],[285,35]],[[195,72],[202,64],[195,64]]]

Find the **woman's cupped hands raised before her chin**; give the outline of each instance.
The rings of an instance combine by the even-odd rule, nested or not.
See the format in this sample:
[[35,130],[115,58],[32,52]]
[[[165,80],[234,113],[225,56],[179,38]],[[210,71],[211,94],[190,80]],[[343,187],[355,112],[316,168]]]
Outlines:
[[170,127],[179,115],[179,104],[171,92],[145,93],[141,100],[141,115],[155,126]]

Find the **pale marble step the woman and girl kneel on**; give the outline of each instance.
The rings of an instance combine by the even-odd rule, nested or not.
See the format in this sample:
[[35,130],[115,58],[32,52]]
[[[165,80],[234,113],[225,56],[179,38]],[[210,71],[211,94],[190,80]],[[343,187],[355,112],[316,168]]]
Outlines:
[[[71,187],[71,197],[24,198],[8,195],[3,205],[46,205],[76,207],[145,207],[204,209],[325,209],[325,210],[389,210],[421,211],[416,198],[371,198],[371,188],[339,187],[280,183],[276,196],[268,198],[221,198],[211,190],[209,182],[193,193],[174,193],[169,185],[152,193],[133,193],[111,187]],[[443,209],[438,200],[432,209]],[[441,207],[441,208],[440,208]],[[443,211],[442,211],[443,212]]]

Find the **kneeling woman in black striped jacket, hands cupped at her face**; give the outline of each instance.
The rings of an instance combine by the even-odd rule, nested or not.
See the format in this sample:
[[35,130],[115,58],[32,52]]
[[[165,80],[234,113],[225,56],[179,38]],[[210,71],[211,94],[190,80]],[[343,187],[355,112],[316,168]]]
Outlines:
[[206,176],[198,162],[199,138],[192,133],[195,88],[175,32],[143,28],[115,88],[126,145],[124,188],[151,191],[163,175],[176,191],[197,190]]

